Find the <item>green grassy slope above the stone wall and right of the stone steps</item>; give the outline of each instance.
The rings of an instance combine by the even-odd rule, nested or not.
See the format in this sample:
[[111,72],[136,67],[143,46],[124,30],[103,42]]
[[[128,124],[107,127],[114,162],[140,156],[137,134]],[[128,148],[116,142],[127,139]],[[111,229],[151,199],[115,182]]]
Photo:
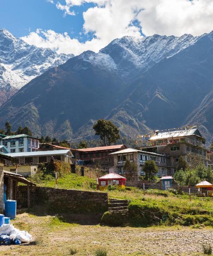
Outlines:
[[[39,186],[55,187],[55,179],[41,180]],[[58,188],[96,191],[96,181],[75,174],[65,175],[58,179]],[[158,225],[192,225],[199,228],[201,224],[213,226],[213,198],[198,198],[194,195],[189,201],[188,195],[175,195],[172,192],[148,189],[144,197],[143,190],[127,188],[109,190],[109,198],[127,199],[129,203],[128,219],[118,218],[110,221],[109,213],[104,223],[113,225],[128,224],[132,226]],[[122,220],[122,221],[121,221]]]

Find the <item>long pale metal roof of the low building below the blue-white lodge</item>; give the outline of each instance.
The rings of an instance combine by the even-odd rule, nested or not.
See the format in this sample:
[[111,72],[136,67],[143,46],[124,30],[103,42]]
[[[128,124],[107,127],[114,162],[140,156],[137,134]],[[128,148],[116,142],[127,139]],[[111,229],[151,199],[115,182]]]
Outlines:
[[[33,156],[46,156],[46,155],[59,155],[59,154],[67,154],[70,151],[70,149],[64,149],[64,150],[47,150],[47,151],[34,151],[34,152],[17,152],[17,153],[9,153],[6,154],[10,157],[33,157]],[[72,154],[72,152],[70,151]],[[72,154],[73,157],[73,154]]]

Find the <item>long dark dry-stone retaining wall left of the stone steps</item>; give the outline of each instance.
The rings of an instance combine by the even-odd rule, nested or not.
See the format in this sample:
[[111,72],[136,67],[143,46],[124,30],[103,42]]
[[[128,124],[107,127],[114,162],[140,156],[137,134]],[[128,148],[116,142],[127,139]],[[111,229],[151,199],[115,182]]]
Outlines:
[[[52,213],[105,212],[108,194],[80,190],[30,186],[30,207],[46,207]],[[18,186],[17,208],[27,207],[27,186]]]

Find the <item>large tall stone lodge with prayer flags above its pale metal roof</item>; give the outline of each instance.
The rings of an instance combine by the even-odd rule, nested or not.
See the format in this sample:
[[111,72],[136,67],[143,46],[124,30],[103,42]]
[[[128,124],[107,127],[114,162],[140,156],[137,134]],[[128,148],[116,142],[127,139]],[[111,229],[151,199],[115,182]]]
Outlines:
[[158,132],[150,138],[148,145],[141,150],[155,152],[167,156],[167,175],[174,175],[177,170],[179,157],[186,161],[189,152],[198,154],[207,166],[207,149],[205,139],[198,129]]

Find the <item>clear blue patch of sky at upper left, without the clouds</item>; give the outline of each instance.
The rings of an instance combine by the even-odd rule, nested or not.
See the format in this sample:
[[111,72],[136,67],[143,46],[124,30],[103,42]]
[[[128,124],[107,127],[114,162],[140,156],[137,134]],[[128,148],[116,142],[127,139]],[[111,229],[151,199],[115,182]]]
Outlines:
[[[64,1],[61,1],[64,3]],[[64,15],[54,4],[46,0],[0,0],[0,28],[5,28],[17,37],[23,37],[37,28],[52,29],[57,33],[68,32],[72,38],[88,40],[88,35],[80,38],[83,28],[82,14],[93,3],[83,3],[72,9],[76,15]]]

